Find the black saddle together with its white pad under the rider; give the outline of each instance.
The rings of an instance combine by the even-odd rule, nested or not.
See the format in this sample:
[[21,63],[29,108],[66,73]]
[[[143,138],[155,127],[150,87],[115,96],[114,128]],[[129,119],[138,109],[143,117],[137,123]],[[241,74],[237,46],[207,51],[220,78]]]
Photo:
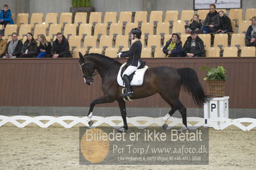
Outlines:
[[[137,70],[135,70],[135,72],[133,72],[130,76],[129,76],[129,80],[131,82],[131,86],[141,86],[143,84],[144,81],[144,75],[146,73],[146,70],[148,70],[148,66],[145,65],[146,62],[143,62],[141,64],[141,66],[139,66],[139,68],[137,68]],[[123,82],[123,72],[124,70],[127,68],[128,66],[126,66],[126,63],[124,63],[118,72],[117,75],[117,83],[119,84],[119,86],[124,87],[124,82]]]

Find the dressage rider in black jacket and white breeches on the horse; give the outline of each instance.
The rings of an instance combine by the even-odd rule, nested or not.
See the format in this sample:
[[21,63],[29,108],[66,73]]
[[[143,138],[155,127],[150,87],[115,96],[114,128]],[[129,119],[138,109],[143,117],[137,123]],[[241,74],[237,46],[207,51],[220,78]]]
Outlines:
[[133,92],[130,88],[130,80],[128,78],[129,75],[131,75],[139,66],[141,66],[142,60],[141,60],[141,29],[135,27],[130,32],[132,36],[132,46],[128,51],[119,52],[118,57],[119,58],[126,58],[128,57],[128,61],[126,63],[126,70],[123,73],[123,81],[126,87],[126,93],[121,95],[121,97],[132,97]]

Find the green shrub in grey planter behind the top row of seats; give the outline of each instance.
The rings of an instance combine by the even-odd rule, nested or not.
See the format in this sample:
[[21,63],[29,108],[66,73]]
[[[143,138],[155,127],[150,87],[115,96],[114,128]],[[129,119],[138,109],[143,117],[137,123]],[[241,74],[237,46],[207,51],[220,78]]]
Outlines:
[[90,0],[72,0],[72,7],[70,8],[70,12],[73,13],[73,22],[76,12],[87,12],[87,22],[89,22],[90,12],[95,12],[95,10],[91,6]]

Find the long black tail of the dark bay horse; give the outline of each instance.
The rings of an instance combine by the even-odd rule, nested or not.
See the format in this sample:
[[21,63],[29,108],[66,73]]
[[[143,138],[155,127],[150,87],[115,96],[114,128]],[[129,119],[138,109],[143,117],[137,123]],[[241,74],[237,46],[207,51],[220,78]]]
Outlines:
[[198,81],[198,75],[192,68],[178,68],[177,70],[181,77],[183,89],[192,95],[196,105],[201,107],[205,102],[209,101],[209,97],[205,95]]

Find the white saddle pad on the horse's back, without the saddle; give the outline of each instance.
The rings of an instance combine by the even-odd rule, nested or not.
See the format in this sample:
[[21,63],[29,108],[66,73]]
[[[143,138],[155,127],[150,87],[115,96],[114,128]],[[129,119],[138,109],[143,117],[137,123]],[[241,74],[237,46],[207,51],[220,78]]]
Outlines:
[[[124,65],[126,65],[126,63],[124,63],[118,72],[117,75],[117,83],[119,84],[119,86],[124,87],[124,83],[123,83],[123,79],[121,77],[121,70],[124,67]],[[137,69],[133,75],[133,79],[131,81],[131,86],[141,86],[143,84],[144,81],[144,75],[146,70],[148,70],[148,66],[144,66],[144,68],[141,69]]]

